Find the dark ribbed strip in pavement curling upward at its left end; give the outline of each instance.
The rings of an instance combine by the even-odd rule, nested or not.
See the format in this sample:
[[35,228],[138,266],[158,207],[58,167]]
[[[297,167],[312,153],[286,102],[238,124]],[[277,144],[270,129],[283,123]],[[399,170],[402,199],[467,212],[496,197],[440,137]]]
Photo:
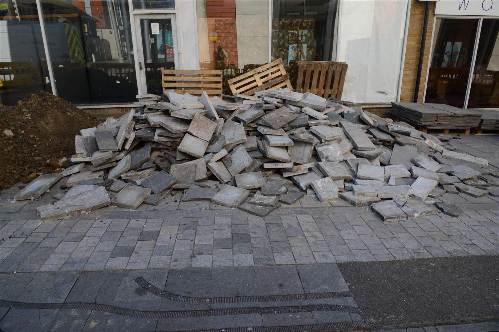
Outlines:
[[326,292],[326,293],[306,293],[306,294],[288,294],[288,295],[251,295],[251,296],[230,296],[216,298],[196,298],[173,294],[162,291],[152,286],[142,277],[135,278],[135,282],[147,292],[158,297],[185,303],[209,304],[209,303],[241,303],[241,302],[270,302],[270,301],[298,301],[311,299],[332,299],[351,297],[351,292]]

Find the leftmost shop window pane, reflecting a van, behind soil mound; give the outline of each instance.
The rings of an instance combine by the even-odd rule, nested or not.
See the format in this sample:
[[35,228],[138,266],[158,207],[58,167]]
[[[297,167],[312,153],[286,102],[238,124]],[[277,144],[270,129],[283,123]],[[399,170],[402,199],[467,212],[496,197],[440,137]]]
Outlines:
[[0,0],[0,104],[36,90],[51,92],[36,4]]

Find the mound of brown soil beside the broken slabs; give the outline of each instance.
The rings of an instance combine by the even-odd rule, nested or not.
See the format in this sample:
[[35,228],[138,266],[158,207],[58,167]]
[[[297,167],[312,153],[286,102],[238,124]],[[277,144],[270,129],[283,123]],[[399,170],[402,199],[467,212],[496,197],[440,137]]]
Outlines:
[[47,160],[74,154],[74,136],[99,123],[45,91],[27,95],[16,106],[0,106],[0,189],[55,172],[58,165]]

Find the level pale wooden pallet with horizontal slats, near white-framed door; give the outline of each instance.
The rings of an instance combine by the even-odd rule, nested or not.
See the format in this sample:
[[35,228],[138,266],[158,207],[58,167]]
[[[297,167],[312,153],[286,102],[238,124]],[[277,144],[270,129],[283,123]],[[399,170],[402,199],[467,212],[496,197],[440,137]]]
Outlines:
[[189,93],[209,96],[222,93],[223,78],[221,70],[175,70],[161,71],[163,91],[174,90],[178,94]]

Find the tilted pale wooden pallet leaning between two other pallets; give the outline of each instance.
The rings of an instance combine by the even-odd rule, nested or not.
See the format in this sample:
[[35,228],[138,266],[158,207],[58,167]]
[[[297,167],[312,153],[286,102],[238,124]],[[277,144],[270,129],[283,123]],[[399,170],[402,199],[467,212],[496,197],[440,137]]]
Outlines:
[[227,81],[233,95],[253,96],[258,91],[277,88],[293,89],[289,75],[282,65],[282,59],[276,59],[243,75]]

